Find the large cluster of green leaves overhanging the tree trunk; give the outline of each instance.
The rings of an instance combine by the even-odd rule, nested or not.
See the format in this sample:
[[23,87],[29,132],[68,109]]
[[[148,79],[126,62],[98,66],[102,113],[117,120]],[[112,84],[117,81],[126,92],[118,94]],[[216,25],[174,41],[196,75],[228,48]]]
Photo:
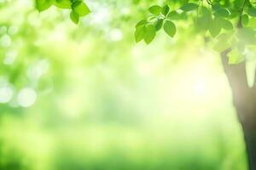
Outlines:
[[249,53],[256,53],[256,8],[248,0],[236,1],[231,5],[206,1],[209,7],[200,1],[199,4],[185,3],[173,10],[168,5],[148,8],[148,19],[137,23],[136,42],[152,42],[161,28],[174,37],[177,33],[175,21],[182,20],[185,15],[195,16],[193,27],[197,32],[212,37],[215,50],[222,52],[232,48],[228,54],[230,64],[243,61]]

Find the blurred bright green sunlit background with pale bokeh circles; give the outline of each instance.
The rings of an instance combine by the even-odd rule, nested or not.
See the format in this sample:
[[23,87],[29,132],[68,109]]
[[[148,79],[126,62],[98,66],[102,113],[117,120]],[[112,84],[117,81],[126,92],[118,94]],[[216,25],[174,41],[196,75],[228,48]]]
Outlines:
[[136,44],[158,1],[87,3],[75,26],[0,0],[0,169],[247,169],[218,54],[186,27]]

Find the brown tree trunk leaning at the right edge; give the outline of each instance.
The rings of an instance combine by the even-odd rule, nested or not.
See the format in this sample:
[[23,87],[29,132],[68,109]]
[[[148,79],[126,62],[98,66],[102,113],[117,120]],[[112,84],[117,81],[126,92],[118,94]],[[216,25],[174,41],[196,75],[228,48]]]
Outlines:
[[[229,65],[227,54],[230,48],[221,53],[224,72],[230,82],[233,102],[241,122],[247,147],[247,160],[250,170],[256,170],[256,87],[247,86],[246,64]],[[255,83],[254,83],[255,84]]]

